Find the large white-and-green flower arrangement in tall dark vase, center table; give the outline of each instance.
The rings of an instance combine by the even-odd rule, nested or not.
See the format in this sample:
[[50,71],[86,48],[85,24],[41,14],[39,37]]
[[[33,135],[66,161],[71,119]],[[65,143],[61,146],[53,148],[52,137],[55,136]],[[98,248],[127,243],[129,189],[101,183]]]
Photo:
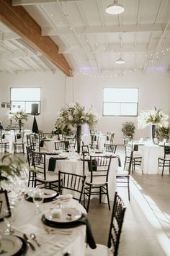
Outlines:
[[[70,135],[73,128],[81,127],[83,124],[89,124],[89,128],[93,129],[98,121],[99,116],[94,113],[92,106],[89,111],[86,111],[85,107],[81,106],[78,102],[71,103],[69,106],[66,106],[66,108],[62,108],[58,113],[52,134]],[[79,140],[78,137],[77,135],[77,142]]]

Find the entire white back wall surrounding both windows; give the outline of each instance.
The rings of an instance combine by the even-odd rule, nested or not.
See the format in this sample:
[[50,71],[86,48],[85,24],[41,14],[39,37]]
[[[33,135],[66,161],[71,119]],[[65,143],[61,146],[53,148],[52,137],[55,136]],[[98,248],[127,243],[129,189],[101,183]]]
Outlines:
[[[41,87],[41,114],[37,116],[39,129],[50,132],[53,129],[55,117],[65,103],[79,101],[89,108],[91,104],[100,116],[97,129],[102,132],[115,132],[115,142],[122,143],[122,123],[135,122],[135,139],[149,137],[149,127],[138,129],[136,117],[102,116],[103,88],[139,88],[139,110],[148,110],[156,106],[170,116],[170,74],[131,73],[122,77],[98,78],[84,74],[66,77],[62,72],[28,72],[24,74],[0,73],[0,103],[10,100],[11,87]],[[6,126],[8,108],[0,106],[0,120]],[[25,122],[25,129],[32,129],[33,117]],[[170,120],[169,120],[170,121]]]

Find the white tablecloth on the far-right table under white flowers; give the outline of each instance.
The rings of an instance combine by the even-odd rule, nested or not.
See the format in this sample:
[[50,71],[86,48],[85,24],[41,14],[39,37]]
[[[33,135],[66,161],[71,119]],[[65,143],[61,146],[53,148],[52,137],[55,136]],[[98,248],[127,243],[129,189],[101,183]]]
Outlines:
[[158,174],[158,157],[164,155],[164,147],[149,141],[143,142],[143,144],[138,145],[138,152],[143,157],[143,174]]

